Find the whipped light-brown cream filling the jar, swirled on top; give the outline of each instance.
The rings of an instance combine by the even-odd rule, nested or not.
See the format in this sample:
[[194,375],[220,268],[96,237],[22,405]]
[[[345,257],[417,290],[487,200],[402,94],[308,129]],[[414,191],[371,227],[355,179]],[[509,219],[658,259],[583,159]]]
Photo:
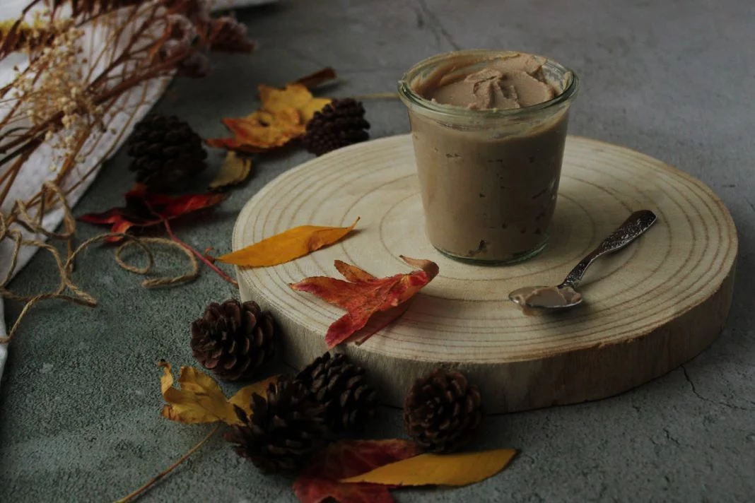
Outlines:
[[476,262],[535,255],[547,242],[566,136],[569,100],[555,98],[572,73],[499,51],[429,61],[399,90],[430,242]]

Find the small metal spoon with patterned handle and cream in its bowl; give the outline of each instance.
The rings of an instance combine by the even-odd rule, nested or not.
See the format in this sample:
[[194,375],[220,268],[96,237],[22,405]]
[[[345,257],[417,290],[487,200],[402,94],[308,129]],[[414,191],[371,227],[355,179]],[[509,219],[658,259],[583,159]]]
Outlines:
[[566,275],[562,284],[556,287],[523,287],[509,294],[509,299],[516,302],[519,307],[525,309],[564,309],[572,308],[581,304],[582,296],[577,291],[579,282],[582,281],[584,271],[595,262],[599,256],[606,253],[621,250],[639,235],[648,230],[658,219],[650,210],[639,210],[617,228],[612,234],[603,240],[598,247],[590,252],[575,268]]

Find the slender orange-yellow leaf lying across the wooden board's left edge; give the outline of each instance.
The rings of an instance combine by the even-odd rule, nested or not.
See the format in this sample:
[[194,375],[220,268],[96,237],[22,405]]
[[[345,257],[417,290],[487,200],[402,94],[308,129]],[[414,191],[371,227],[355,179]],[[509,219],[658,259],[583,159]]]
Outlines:
[[245,267],[283,264],[340,241],[353,231],[356,222],[359,222],[359,218],[349,227],[300,225],[241,250],[219,256],[217,260]]

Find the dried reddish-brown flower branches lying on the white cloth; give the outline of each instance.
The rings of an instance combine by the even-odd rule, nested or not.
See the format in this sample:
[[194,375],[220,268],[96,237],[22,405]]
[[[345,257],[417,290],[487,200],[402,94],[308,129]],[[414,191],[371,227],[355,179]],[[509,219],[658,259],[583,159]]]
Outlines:
[[32,0],[19,19],[0,24],[0,60],[12,51],[28,57],[0,88],[0,204],[43,143],[60,154],[51,170],[68,191],[67,176],[122,112],[121,97],[176,72],[205,75],[207,51],[252,48],[245,26],[211,17],[205,0]]

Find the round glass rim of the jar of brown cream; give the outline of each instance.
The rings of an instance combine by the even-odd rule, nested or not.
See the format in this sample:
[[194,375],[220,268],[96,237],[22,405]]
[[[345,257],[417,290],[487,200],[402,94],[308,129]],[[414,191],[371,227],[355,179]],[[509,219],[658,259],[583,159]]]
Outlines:
[[499,57],[506,54],[529,55],[530,53],[523,53],[518,51],[497,51],[492,49],[466,49],[463,51],[451,51],[428,57],[408,69],[408,71],[405,72],[405,74],[402,76],[401,80],[399,80],[399,97],[405,103],[405,105],[410,108],[416,107],[426,112],[433,112],[434,114],[439,114],[448,118],[510,118],[520,115],[527,115],[543,109],[549,109],[562,103],[568,103],[570,100],[572,100],[572,98],[575,97],[575,94],[579,89],[579,78],[577,74],[572,69],[569,69],[562,64],[551,60],[550,58],[540,56],[538,54],[532,54],[532,56],[543,58],[545,60],[544,64],[547,64],[550,67],[555,68],[559,72],[562,72],[563,75],[565,75],[565,77],[569,80],[567,81],[566,86],[564,87],[564,90],[561,92],[561,94],[553,97],[550,100],[544,101],[543,103],[538,103],[537,105],[525,106],[521,109],[473,110],[466,109],[461,106],[443,105],[441,103],[427,100],[426,98],[421,97],[419,94],[414,92],[414,90],[411,88],[410,82],[418,74],[418,72],[421,72],[421,70],[427,69],[428,67],[431,67],[436,63],[440,63],[443,60],[447,60],[453,57],[473,57],[476,55]]

